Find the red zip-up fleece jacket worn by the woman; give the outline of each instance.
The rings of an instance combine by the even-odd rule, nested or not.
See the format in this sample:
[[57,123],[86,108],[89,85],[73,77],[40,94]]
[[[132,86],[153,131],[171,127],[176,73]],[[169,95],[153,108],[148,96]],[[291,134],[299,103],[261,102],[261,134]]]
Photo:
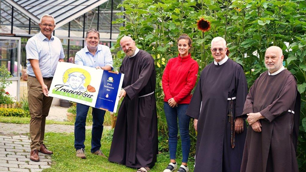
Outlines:
[[164,101],[174,98],[178,104],[189,104],[191,91],[196,84],[199,65],[190,57],[171,58],[162,75],[162,88],[165,93]]

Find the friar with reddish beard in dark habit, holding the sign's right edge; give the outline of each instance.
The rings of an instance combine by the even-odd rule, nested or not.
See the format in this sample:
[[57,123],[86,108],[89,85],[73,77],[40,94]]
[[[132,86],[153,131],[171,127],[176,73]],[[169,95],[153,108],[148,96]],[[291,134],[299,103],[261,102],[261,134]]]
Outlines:
[[155,63],[131,37],[124,36],[120,45],[126,55],[120,67],[124,79],[119,96],[124,99],[108,160],[146,172],[154,166],[158,154]]

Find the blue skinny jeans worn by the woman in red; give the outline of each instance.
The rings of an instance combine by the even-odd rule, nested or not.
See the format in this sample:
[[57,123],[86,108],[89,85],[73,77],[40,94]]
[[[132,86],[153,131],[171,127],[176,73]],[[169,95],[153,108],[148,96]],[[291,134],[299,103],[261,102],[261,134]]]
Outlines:
[[190,136],[189,122],[190,117],[186,115],[186,110],[189,104],[178,104],[177,107],[170,107],[167,102],[164,102],[164,110],[169,129],[169,152],[170,159],[176,159],[177,149],[177,118],[182,140],[182,163],[188,162],[190,152]]

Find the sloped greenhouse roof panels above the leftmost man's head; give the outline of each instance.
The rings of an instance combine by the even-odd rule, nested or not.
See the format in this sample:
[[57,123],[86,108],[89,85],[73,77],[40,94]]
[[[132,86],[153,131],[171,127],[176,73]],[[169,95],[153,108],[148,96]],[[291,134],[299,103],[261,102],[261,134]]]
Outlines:
[[[91,9],[103,4],[107,0],[5,0],[14,8],[24,13],[31,20],[39,23],[43,14],[50,14],[55,18],[56,27],[72,21]],[[7,13],[10,17],[10,12]],[[22,19],[21,19],[22,20]]]

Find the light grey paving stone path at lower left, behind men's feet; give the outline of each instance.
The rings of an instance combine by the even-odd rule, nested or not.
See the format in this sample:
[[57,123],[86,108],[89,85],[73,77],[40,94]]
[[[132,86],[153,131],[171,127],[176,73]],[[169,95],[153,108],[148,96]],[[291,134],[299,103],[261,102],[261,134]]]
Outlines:
[[[110,126],[104,126],[109,129]],[[47,132],[72,133],[73,125],[50,124]],[[86,126],[91,129],[91,126]],[[50,168],[51,155],[39,152],[39,162],[30,160],[30,138],[22,134],[29,133],[29,124],[0,123],[0,172],[19,171],[37,172]]]

